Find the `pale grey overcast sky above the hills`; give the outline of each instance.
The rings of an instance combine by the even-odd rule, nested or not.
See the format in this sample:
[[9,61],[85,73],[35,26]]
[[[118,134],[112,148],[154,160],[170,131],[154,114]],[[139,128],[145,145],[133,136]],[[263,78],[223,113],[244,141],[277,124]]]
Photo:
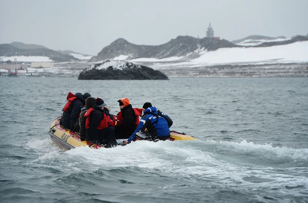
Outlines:
[[308,33],[308,0],[0,0],[0,44],[20,41],[97,55],[115,39],[159,45],[178,35]]

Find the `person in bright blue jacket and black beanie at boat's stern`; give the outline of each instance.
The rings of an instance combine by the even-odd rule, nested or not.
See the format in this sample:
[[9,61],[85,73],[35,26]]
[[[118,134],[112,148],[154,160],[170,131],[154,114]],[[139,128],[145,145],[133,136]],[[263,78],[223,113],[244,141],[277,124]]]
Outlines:
[[169,128],[172,126],[172,119],[163,112],[157,110],[150,102],[145,102],[142,110],[144,110],[144,114],[140,119],[137,129],[135,132],[125,141],[125,144],[131,143],[136,139],[137,132],[144,132],[147,129],[147,133],[149,133],[152,137],[152,140],[160,139],[167,140],[170,138],[170,130]]

